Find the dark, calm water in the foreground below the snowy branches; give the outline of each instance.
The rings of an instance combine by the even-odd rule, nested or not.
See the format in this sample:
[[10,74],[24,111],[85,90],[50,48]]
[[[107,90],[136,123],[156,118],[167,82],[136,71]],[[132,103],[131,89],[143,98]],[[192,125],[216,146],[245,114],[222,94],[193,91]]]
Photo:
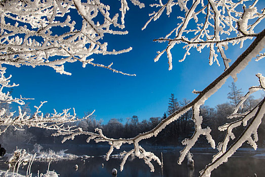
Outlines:
[[[65,147],[64,147],[65,148]],[[66,149],[66,148],[65,148]],[[112,169],[118,170],[117,176],[162,176],[161,167],[154,162],[155,172],[150,172],[150,168],[144,163],[143,160],[135,158],[127,160],[123,171],[119,171],[119,164],[121,159],[104,160],[99,155],[104,155],[107,152],[106,148],[87,148],[78,147],[76,149],[68,148],[68,153],[75,153],[77,155],[87,154],[95,155],[95,158],[89,159],[76,159],[71,161],[58,161],[50,164],[50,170],[56,170],[61,177],[64,176],[113,176]],[[206,164],[211,161],[213,153],[205,153],[206,150],[197,150],[193,153],[194,168],[187,165],[187,159],[182,165],[178,165],[180,149],[157,149],[150,147],[146,150],[152,150],[159,158],[161,158],[161,151],[163,151],[163,177],[165,176],[199,176],[199,171],[202,170]],[[121,150],[123,151],[123,149]],[[120,152],[121,152],[120,151]],[[204,153],[203,153],[204,152]],[[115,152],[118,153],[118,152]],[[229,158],[227,163],[219,166],[213,170],[211,176],[264,176],[265,174],[265,159],[253,157],[253,151],[237,153],[236,156]],[[78,169],[75,170],[75,165]],[[48,168],[48,162],[34,162],[31,167],[31,172],[37,174],[45,173]],[[239,170],[240,169],[240,170]]]

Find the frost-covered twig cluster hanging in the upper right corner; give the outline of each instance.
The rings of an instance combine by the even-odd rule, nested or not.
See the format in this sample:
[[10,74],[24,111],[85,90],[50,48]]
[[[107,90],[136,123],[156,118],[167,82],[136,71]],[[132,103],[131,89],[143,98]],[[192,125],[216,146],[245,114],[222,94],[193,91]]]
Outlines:
[[[152,14],[149,21],[145,24],[143,29],[152,20],[157,20],[163,11],[166,9],[166,15],[170,15],[172,7],[179,7],[184,11],[184,16],[179,16],[180,22],[171,30],[165,37],[154,39],[154,41],[164,42],[168,41],[166,49],[162,52],[158,51],[158,55],[154,61],[166,52],[169,63],[169,70],[172,69],[172,54],[171,49],[176,45],[183,43],[186,53],[184,57],[179,60],[182,62],[190,55],[190,50],[195,48],[198,52],[202,52],[204,48],[209,48],[209,65],[213,62],[219,66],[218,54],[224,61],[225,68],[229,68],[230,59],[225,55],[225,50],[228,45],[239,44],[240,48],[247,39],[256,37],[254,27],[265,18],[264,9],[260,13],[257,12],[256,3],[246,8],[245,2],[248,0],[234,1],[234,0],[208,0],[205,1],[174,1],[168,0],[166,4],[159,1],[159,4],[152,4],[151,7],[156,7],[158,10]],[[242,9],[242,11],[240,11]],[[255,21],[253,21],[255,19]],[[191,25],[194,21],[195,25]],[[174,33],[174,34],[173,34]],[[172,36],[172,38],[170,38]]]

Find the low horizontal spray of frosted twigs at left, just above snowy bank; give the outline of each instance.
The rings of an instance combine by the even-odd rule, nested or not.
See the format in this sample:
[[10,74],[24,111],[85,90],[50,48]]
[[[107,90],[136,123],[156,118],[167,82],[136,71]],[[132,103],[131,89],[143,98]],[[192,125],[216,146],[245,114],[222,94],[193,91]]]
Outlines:
[[46,102],[41,102],[38,107],[35,106],[36,111],[33,116],[27,115],[27,112],[23,112],[20,106],[18,107],[18,115],[15,115],[15,112],[9,112],[7,109],[2,108],[0,110],[0,135],[5,132],[9,126],[13,126],[15,130],[24,130],[23,127],[27,126],[57,131],[71,131],[75,126],[64,126],[65,123],[87,119],[95,112],[94,110],[91,114],[81,119],[76,117],[74,108],[73,114],[71,114],[70,109],[65,109],[61,113],[54,110],[54,113],[44,115],[40,111],[44,103]]

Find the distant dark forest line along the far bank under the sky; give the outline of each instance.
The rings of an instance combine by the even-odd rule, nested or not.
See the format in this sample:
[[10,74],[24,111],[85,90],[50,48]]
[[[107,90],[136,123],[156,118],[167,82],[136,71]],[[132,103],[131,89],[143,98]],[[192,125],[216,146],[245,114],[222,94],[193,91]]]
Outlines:
[[[228,93],[229,102],[218,104],[214,108],[209,106],[201,106],[200,115],[203,116],[203,128],[209,126],[211,128],[212,138],[215,140],[215,143],[219,143],[224,140],[225,132],[219,131],[218,126],[228,122],[227,116],[232,114],[235,106],[239,103],[240,98],[243,96],[241,89],[237,89],[234,82],[229,86],[231,91]],[[244,102],[244,107],[241,108],[241,112],[245,112],[254,106],[260,101],[260,99],[254,99],[253,96],[250,96],[247,101]],[[174,97],[174,94],[171,94],[168,101],[168,109],[165,110],[165,113],[162,117],[150,117],[148,120],[143,120],[139,122],[137,115],[126,118],[125,122],[118,118],[112,118],[107,124],[103,124],[102,120],[97,120],[94,115],[86,120],[82,120],[75,124],[68,124],[69,126],[76,125],[81,127],[85,131],[92,131],[99,127],[103,130],[105,136],[110,138],[131,138],[135,137],[138,134],[149,131],[154,128],[162,119],[166,118],[167,115],[172,114],[174,111],[179,108],[187,105],[190,101],[183,99],[178,101]],[[10,105],[2,103],[0,108],[10,109]],[[26,111],[30,115],[30,109],[28,104],[25,104],[22,107],[23,111]],[[87,115],[90,113],[87,112]],[[235,121],[231,119],[230,122]],[[122,123],[123,122],[123,123]],[[41,129],[41,128],[28,128],[23,127],[23,131],[16,130],[14,131],[13,127],[9,129],[0,136],[1,144],[61,144],[62,137],[51,137],[53,130]],[[236,128],[235,134],[238,137],[244,129]],[[181,116],[178,120],[172,122],[169,126],[166,126],[157,137],[150,138],[145,140],[144,143],[147,145],[160,145],[160,146],[182,146],[182,141],[185,138],[192,137],[194,132],[194,122],[192,110],[189,110],[187,113]],[[265,123],[262,121],[258,129],[258,147],[265,146]],[[86,144],[86,136],[76,137],[74,140],[68,140],[65,144]],[[206,142],[205,137],[201,137],[196,143],[196,146],[209,146]],[[95,143],[91,141],[90,143]],[[209,146],[210,147],[210,146]]]

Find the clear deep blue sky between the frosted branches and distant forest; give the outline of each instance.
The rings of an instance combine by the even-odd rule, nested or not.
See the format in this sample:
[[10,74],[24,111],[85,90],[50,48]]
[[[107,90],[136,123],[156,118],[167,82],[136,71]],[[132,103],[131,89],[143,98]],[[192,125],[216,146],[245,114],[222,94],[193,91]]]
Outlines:
[[[48,101],[43,107],[44,113],[53,112],[55,108],[61,112],[65,108],[75,108],[79,117],[84,112],[96,110],[97,119],[103,119],[104,124],[111,118],[122,118],[137,115],[141,120],[150,117],[162,116],[167,110],[168,98],[174,94],[179,101],[183,98],[193,100],[196,95],[192,91],[202,90],[218,75],[224,71],[223,61],[221,66],[216,63],[208,65],[208,49],[199,54],[195,50],[182,63],[184,50],[182,45],[172,49],[173,69],[168,71],[166,55],[154,63],[157,51],[162,51],[166,43],[153,42],[153,39],[165,36],[176,24],[173,13],[168,18],[165,14],[156,22],[151,22],[144,31],[141,28],[149,19],[148,13],[153,12],[148,6],[139,10],[129,3],[130,10],[125,17],[127,35],[108,35],[108,50],[112,51],[132,47],[132,51],[121,55],[102,56],[95,55],[95,62],[109,65],[113,68],[137,76],[125,76],[113,73],[110,70],[87,65],[82,68],[81,63],[75,62],[65,65],[65,70],[72,75],[61,75],[49,67],[8,67],[7,73],[12,74],[11,82],[19,83],[14,87],[13,96],[34,98],[30,100],[30,107],[39,105],[40,101]],[[264,3],[262,3],[264,5]],[[262,6],[264,7],[264,6]],[[262,26],[262,25],[261,25]],[[264,26],[264,22],[263,22]],[[248,46],[246,42],[243,49],[239,46],[227,51],[228,58],[235,61]],[[265,60],[254,60],[239,74],[236,85],[244,93],[249,86],[257,85],[255,74],[260,72],[265,75]],[[206,105],[214,107],[216,104],[227,102],[228,85],[232,79],[213,95]],[[255,95],[256,98],[260,94]],[[12,105],[16,108],[18,105]]]

